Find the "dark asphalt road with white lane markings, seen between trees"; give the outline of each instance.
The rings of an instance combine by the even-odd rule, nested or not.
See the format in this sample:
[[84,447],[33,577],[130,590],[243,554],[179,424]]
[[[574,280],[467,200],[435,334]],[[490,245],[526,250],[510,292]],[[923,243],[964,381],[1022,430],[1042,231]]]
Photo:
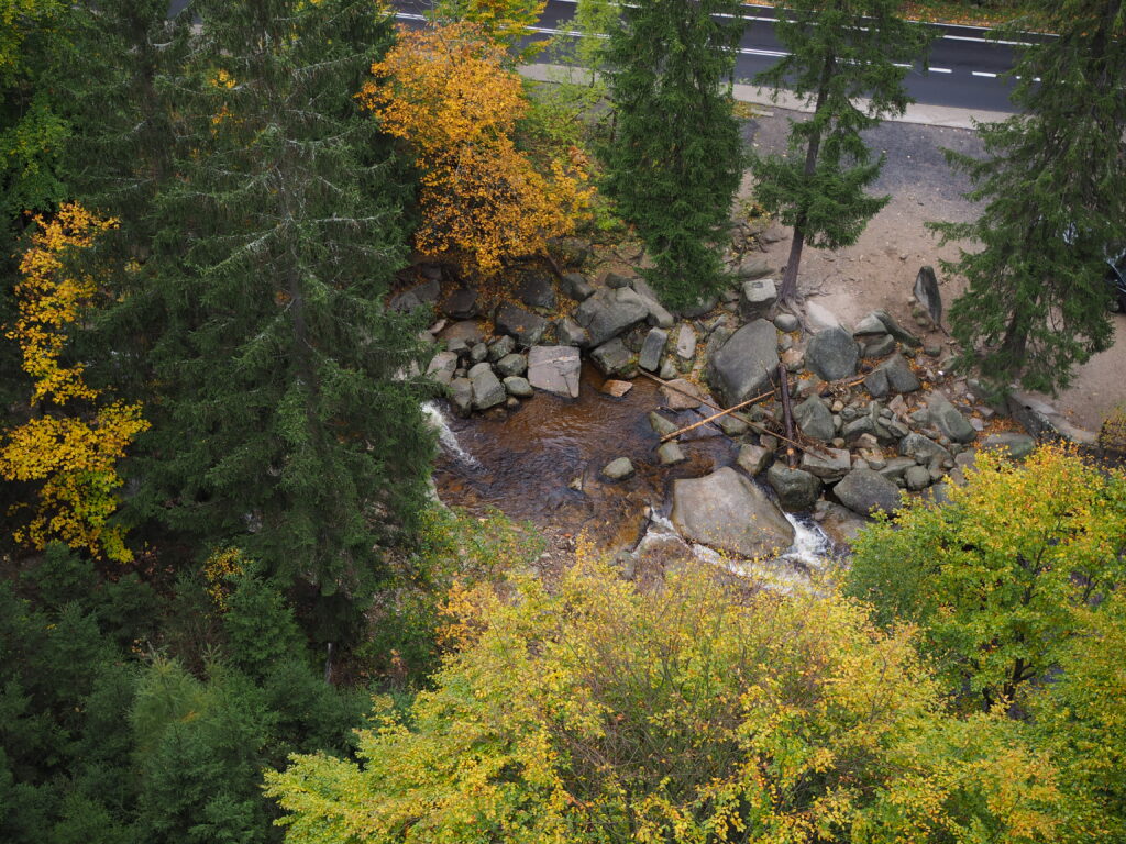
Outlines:
[[[548,0],[535,28],[538,37],[568,37],[574,33],[575,0]],[[397,17],[420,21],[430,8],[427,0],[396,0]],[[775,9],[745,6],[747,30],[740,44],[736,77],[751,82],[754,75],[785,55],[774,33]],[[933,25],[929,68],[917,62],[906,78],[906,88],[922,105],[965,108],[974,111],[1013,111],[1009,100],[1012,80],[1001,74],[1013,64],[1013,45],[994,43],[989,30],[978,27]],[[531,36],[531,37],[536,37]],[[1039,37],[1039,36],[1029,36]]]

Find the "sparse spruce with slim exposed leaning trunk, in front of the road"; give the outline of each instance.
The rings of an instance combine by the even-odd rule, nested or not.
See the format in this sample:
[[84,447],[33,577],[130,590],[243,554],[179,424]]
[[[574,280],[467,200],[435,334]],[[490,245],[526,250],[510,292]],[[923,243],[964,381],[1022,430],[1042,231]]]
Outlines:
[[890,197],[865,192],[884,159],[873,159],[860,133],[912,100],[908,63],[922,57],[924,29],[899,17],[896,0],[795,0],[775,32],[789,52],[757,81],[788,90],[813,107],[790,124],[789,155],[753,159],[757,198],[794,227],[779,298],[797,297],[806,242],[819,249],[856,243]]

